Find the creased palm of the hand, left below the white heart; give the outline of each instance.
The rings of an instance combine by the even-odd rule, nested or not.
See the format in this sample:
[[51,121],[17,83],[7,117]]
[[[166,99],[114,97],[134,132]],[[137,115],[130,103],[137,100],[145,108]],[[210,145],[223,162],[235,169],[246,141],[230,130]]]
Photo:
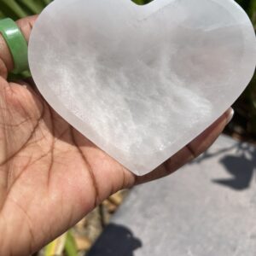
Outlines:
[[37,247],[37,232],[54,238],[99,201],[133,183],[130,172],[26,86],[2,81],[1,102],[0,206],[3,220],[15,212],[5,225],[22,225],[25,236],[11,236],[16,243],[32,239]]

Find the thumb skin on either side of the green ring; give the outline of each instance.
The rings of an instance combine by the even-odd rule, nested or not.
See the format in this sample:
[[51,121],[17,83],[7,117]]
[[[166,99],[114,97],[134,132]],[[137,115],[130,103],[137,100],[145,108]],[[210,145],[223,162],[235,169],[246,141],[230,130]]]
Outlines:
[[[32,32],[32,26],[37,19],[37,15],[27,17],[17,21],[18,26],[20,26],[20,31],[23,33],[26,41],[28,41],[30,34]],[[9,71],[13,70],[14,61],[12,55],[9,51],[8,45],[0,34],[0,75],[6,79]]]

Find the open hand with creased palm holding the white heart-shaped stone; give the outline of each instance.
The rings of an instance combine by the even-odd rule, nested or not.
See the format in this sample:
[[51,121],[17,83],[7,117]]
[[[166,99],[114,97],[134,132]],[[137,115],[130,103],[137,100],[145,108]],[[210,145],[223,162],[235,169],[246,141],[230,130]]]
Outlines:
[[[36,17],[19,20],[28,40]],[[9,83],[0,37],[0,255],[29,255],[119,189],[164,177],[205,151],[231,118],[222,115],[153,172],[137,177],[49,107],[32,83]]]

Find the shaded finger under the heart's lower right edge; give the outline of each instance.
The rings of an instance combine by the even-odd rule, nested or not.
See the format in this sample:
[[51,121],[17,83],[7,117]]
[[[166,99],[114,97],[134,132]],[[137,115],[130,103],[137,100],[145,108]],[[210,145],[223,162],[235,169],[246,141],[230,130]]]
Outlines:
[[165,177],[178,168],[195,159],[201,153],[207,150],[212,143],[218,138],[224,127],[230,122],[233,116],[233,109],[227,110],[219,119],[217,119],[206,131],[196,137],[191,143],[174,154],[169,160],[142,177],[137,177],[137,184],[146,183],[154,179]]

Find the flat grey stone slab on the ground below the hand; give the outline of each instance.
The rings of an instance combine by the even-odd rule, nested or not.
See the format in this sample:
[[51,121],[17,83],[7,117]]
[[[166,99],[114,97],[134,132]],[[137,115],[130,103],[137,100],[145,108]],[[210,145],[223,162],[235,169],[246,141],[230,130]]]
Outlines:
[[220,137],[170,177],[131,190],[88,256],[255,256],[256,148]]

